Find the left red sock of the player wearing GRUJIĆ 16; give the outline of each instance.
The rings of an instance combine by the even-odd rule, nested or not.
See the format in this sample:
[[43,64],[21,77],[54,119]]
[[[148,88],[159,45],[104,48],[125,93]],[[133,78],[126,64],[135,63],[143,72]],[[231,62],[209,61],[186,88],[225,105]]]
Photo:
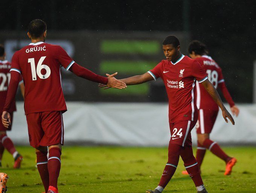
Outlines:
[[37,154],[37,169],[40,174],[41,180],[44,185],[45,192],[48,191],[49,187],[49,172],[47,167],[47,151],[38,151]]

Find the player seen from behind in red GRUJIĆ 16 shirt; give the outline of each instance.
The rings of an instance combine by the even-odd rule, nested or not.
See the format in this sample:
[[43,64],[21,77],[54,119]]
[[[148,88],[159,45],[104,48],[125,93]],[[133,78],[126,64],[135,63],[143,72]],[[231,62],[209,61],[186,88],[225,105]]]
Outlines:
[[[48,193],[58,193],[57,181],[61,168],[61,145],[64,143],[62,113],[67,111],[61,87],[61,67],[75,75],[90,81],[107,84],[113,88],[125,88],[122,81],[96,75],[79,66],[61,46],[44,43],[46,23],[34,19],[28,25],[27,35],[31,43],[15,52],[11,63],[11,81],[2,123],[5,127],[11,124],[9,114],[14,99],[18,77],[23,76],[25,84],[24,109],[27,119],[29,142],[36,149],[37,168],[44,189]],[[49,158],[47,159],[47,147]]]

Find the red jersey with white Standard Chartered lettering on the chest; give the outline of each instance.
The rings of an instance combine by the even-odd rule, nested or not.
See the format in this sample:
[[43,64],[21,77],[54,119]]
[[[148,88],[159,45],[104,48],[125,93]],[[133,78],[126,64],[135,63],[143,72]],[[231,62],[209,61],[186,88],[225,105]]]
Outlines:
[[200,64],[184,55],[172,63],[162,60],[154,69],[148,71],[156,80],[161,77],[169,98],[169,122],[179,120],[197,121],[195,82],[207,79]]

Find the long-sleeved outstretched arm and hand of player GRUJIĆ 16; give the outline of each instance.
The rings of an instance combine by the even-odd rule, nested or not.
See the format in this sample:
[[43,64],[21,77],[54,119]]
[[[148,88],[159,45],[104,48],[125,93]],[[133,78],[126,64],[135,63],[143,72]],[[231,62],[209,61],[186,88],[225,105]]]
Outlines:
[[119,88],[119,89],[126,88],[126,85],[124,82],[114,78],[114,76],[117,75],[117,72],[112,75],[109,75],[107,78],[107,77],[97,75],[91,72],[90,70],[82,66],[79,66],[76,63],[73,63],[73,65],[69,68],[69,70],[81,78],[84,78],[93,82],[102,83],[102,84],[108,85],[108,87],[111,87],[111,88]]

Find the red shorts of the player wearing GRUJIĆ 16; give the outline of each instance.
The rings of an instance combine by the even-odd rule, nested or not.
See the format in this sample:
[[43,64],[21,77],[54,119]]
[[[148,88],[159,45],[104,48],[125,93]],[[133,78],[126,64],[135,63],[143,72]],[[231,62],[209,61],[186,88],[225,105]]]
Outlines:
[[32,147],[64,143],[64,127],[61,111],[46,111],[26,115],[29,143]]

